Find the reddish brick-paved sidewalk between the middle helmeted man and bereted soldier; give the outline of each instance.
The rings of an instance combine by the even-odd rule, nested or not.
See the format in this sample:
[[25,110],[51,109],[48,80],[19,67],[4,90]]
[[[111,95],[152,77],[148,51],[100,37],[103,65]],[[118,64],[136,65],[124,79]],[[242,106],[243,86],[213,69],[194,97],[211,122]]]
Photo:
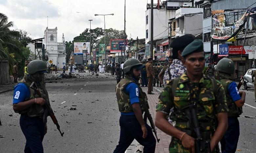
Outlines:
[[[143,91],[147,93],[147,87],[142,87]],[[150,107],[150,114],[152,115],[153,121],[155,121],[156,118],[156,105],[158,104],[158,97],[160,95],[160,90],[157,91],[156,88],[153,88],[154,95],[147,94],[148,97],[148,104]],[[157,129],[157,136],[158,139],[160,139],[160,142],[156,145],[156,153],[169,153],[169,144],[171,142],[171,136],[165,134],[160,129]]]

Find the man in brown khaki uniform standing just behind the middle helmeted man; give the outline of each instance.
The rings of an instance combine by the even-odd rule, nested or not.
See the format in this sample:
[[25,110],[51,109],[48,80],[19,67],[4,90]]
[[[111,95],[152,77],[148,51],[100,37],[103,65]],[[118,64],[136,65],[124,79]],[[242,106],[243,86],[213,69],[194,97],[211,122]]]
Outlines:
[[152,58],[148,58],[148,63],[145,65],[146,70],[147,70],[147,79],[148,79],[148,94],[155,94],[153,93],[153,79],[155,79],[155,73],[153,71],[153,66],[152,66],[153,60]]

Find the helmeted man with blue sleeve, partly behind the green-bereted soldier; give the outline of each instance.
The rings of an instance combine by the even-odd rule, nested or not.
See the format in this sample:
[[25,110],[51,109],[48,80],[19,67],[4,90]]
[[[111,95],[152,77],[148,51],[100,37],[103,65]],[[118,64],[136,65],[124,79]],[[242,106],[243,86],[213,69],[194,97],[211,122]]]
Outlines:
[[[215,76],[224,87],[229,112],[228,129],[221,140],[222,153],[235,153],[239,139],[239,121],[238,117],[242,114],[242,106],[245,104],[245,91],[238,91],[237,85],[232,78],[235,74],[235,64],[228,58],[221,59],[216,70],[218,74]],[[241,95],[241,96],[240,96]]]

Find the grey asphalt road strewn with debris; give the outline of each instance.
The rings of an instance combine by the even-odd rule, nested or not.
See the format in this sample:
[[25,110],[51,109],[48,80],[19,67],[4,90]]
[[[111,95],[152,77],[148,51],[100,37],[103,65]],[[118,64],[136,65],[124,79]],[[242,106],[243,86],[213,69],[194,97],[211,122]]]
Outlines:
[[[46,83],[55,116],[64,131],[60,136],[48,118],[48,133],[44,137],[45,152],[55,153],[111,153],[119,140],[119,116],[113,77],[88,73],[85,79],[63,79]],[[256,107],[254,92],[246,91],[246,104]],[[12,91],[0,94],[0,152],[24,152],[25,137],[19,126],[19,114],[12,110]],[[239,118],[239,153],[256,152],[256,109],[244,105]],[[77,110],[69,110],[70,108]],[[245,118],[245,116],[253,118]],[[135,141],[127,153],[135,153],[141,146]]]

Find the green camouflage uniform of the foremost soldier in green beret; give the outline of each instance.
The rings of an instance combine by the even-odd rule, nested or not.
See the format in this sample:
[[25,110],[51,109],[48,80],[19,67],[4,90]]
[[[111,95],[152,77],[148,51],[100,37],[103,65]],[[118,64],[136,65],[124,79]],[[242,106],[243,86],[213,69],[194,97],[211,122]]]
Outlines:
[[[214,122],[216,114],[228,112],[223,86],[220,82],[216,81],[217,86],[212,87],[213,84],[207,77],[202,77],[199,83],[191,83],[184,73],[179,79],[175,96],[173,96],[172,84],[173,80],[164,87],[159,96],[159,104],[156,110],[169,114],[170,109],[174,108],[174,114],[171,118],[176,121],[175,127],[195,138],[194,128],[189,126],[188,118],[181,109],[187,105],[193,104],[199,92],[198,90],[200,90],[200,100],[197,105],[198,120],[201,125],[200,131],[204,139],[211,139],[216,127]],[[214,88],[215,91],[213,91]],[[182,146],[180,139],[176,137],[172,137],[169,152],[189,153],[189,151]],[[215,152],[216,149],[213,150],[213,153]]]

